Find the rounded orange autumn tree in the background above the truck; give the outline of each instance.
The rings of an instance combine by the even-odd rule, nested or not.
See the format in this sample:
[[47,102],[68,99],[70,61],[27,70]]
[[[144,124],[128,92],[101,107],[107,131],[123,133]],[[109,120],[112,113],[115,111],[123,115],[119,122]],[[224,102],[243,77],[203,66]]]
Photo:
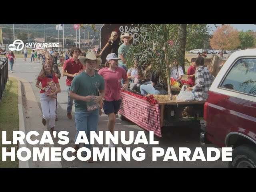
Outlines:
[[229,24],[218,26],[213,32],[210,45],[214,49],[233,50],[240,44],[239,32]]

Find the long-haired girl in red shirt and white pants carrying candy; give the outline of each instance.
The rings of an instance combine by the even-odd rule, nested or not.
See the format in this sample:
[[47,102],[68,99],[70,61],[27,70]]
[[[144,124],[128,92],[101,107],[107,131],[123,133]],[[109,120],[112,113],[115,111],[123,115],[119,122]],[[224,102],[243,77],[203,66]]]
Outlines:
[[[53,136],[55,126],[55,111],[56,111],[56,94],[60,92],[60,84],[58,78],[54,74],[52,66],[46,62],[43,64],[43,70],[36,78],[36,87],[40,89],[40,103],[43,112],[42,124],[46,125],[46,120],[49,119],[50,133]],[[41,86],[39,85],[41,82]],[[46,90],[49,88],[49,82],[54,82],[56,87],[54,92],[46,95]]]

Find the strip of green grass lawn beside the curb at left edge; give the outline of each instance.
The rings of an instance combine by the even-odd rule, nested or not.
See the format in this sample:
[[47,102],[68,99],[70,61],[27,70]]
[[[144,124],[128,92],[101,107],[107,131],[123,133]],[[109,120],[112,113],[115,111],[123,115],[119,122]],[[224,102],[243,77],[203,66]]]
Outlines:
[[15,151],[18,150],[18,145],[2,145],[2,131],[7,131],[7,140],[12,141],[12,132],[18,130],[18,82],[15,78],[9,78],[2,101],[0,102],[0,168],[18,168],[17,157],[15,157],[16,161],[11,161],[10,156],[6,157],[6,161],[2,161],[2,147],[6,147],[7,152],[10,152],[11,147],[15,147]]

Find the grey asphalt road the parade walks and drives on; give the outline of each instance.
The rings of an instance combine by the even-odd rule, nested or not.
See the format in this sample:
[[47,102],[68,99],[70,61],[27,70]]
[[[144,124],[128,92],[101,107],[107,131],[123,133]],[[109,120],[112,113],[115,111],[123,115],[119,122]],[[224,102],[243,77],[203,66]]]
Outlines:
[[[28,82],[30,82],[33,92],[36,96],[36,100],[40,106],[40,96],[39,96],[39,89],[36,88],[36,75],[40,72],[42,65],[40,63],[32,63],[30,62],[30,58],[28,58],[29,62],[23,62],[23,58],[17,58],[17,62],[14,62],[13,70],[14,73],[12,75],[18,76],[21,78],[26,79]],[[62,69],[60,68],[60,71]],[[10,72],[10,71],[9,71]],[[63,146],[57,143],[57,139],[54,140],[54,146],[55,147],[62,147],[62,149],[67,147],[72,147],[74,144],[74,136],[76,133],[76,127],[74,122],[74,106],[72,115],[72,120],[69,120],[66,116],[66,107],[67,107],[67,91],[66,91],[66,77],[62,77],[60,79],[60,87],[61,87],[61,93],[58,93],[58,105],[57,105],[57,115],[58,115],[58,121],[56,121],[56,127],[55,130],[57,132],[61,130],[68,131],[68,137],[70,138],[70,142]],[[38,109],[40,110],[40,109]],[[102,110],[103,111],[103,110]],[[106,130],[106,124],[107,124],[108,118],[104,114],[100,116],[99,120],[99,126],[98,130]],[[118,131],[125,131],[125,137],[126,139],[129,136],[129,131],[134,131],[134,138],[136,137],[138,131],[144,131],[142,128],[138,127],[136,124],[133,124],[129,121],[122,121],[119,118],[116,120],[116,126],[115,130]],[[138,145],[124,145],[124,144],[118,144],[116,147],[122,147],[125,149],[125,147],[130,147],[131,151],[136,147],[142,147],[144,148],[144,154],[145,159],[142,161],[136,161],[131,156],[131,161],[126,161],[124,158],[122,158],[122,161],[105,161],[105,160],[98,160],[94,163],[87,163],[82,162],[78,160],[77,158],[73,161],[66,161],[62,159],[61,164],[63,168],[226,168],[228,162],[222,161],[221,159],[216,161],[202,161],[202,160],[196,160],[196,161],[173,161],[168,160],[164,161],[164,156],[158,157],[157,161],[152,161],[152,148],[153,147],[160,147],[164,149],[164,155],[166,153],[166,150],[168,148],[174,148],[175,154],[178,158],[178,149],[180,147],[187,147],[191,150],[190,159],[192,159],[192,155],[194,153],[194,150],[196,147],[202,147],[202,150],[204,152],[204,155],[206,156],[206,147],[200,146],[199,142],[199,136],[200,136],[200,128],[199,127],[172,127],[164,130],[163,137],[158,138],[157,136],[154,136],[154,140],[159,141],[158,145],[145,145],[145,144],[138,144]],[[149,132],[144,131],[147,140],[149,140]],[[120,132],[119,132],[120,136]],[[120,141],[120,138],[119,138]],[[106,144],[99,145],[95,144],[94,147],[98,147],[100,150],[102,150],[103,147],[107,147]],[[208,147],[216,147],[213,144],[209,145]],[[68,153],[69,156],[71,156],[71,152]],[[117,157],[117,155],[116,155]],[[117,158],[116,158],[117,159]]]

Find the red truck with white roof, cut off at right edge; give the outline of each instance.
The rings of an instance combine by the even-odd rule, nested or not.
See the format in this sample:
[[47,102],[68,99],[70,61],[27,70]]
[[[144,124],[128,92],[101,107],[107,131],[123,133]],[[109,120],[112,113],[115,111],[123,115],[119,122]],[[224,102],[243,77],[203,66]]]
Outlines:
[[230,168],[256,168],[256,49],[234,52],[204,104],[201,145],[232,147]]

